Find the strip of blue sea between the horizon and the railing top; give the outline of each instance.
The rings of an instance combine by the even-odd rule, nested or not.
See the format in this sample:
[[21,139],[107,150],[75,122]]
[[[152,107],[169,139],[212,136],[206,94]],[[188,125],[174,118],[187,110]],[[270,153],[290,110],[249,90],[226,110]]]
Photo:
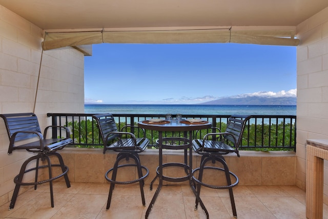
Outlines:
[[85,113],[191,114],[191,115],[296,115],[295,105],[136,105],[86,104]]

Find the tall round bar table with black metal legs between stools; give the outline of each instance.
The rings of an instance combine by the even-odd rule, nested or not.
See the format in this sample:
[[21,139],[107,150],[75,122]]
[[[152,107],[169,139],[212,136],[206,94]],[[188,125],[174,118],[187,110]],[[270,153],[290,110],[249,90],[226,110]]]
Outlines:
[[[165,181],[170,181],[170,182],[181,182],[181,181],[189,181],[190,187],[197,199],[197,201],[199,202],[201,208],[204,210],[204,212],[206,213],[207,218],[209,218],[209,213],[207,211],[207,209],[205,208],[203,202],[200,200],[199,195],[197,194],[197,191],[193,185],[193,181],[192,181],[192,140],[193,140],[193,136],[192,136],[192,132],[195,130],[199,130],[199,129],[209,129],[212,127],[212,123],[208,122],[208,121],[204,121],[204,122],[198,122],[198,123],[189,123],[187,121],[180,121],[180,122],[176,122],[176,121],[172,121],[172,122],[168,122],[168,121],[162,121],[162,122],[150,122],[150,121],[140,121],[138,122],[138,127],[140,128],[144,128],[144,129],[149,129],[149,130],[154,130],[154,131],[158,131],[158,146],[159,146],[159,165],[158,168],[156,170],[156,177],[159,178],[159,183],[158,183],[158,187],[156,189],[156,192],[152,198],[151,203],[149,204],[149,207],[146,211],[146,216],[145,218],[148,218],[149,213],[156,201],[156,198],[159,194],[159,191],[163,185],[163,180]],[[187,133],[189,132],[189,138],[181,138],[181,137],[176,137],[175,139],[172,139],[174,137],[162,137],[162,132],[165,131],[180,131],[183,132],[185,134],[185,137],[187,137]],[[162,149],[167,149],[168,147],[166,147],[166,144],[163,144],[163,142],[165,141],[186,141],[187,144],[183,144],[182,146],[170,146],[171,149],[174,149],[174,147],[177,147],[178,149],[185,149],[185,164],[183,164],[181,166],[181,164],[178,163],[167,163],[167,164],[163,164],[162,162]],[[188,164],[188,153],[187,153],[187,149],[189,149],[189,164]],[[167,176],[163,176],[163,167],[167,167],[167,166],[180,166],[180,167],[185,167],[186,169],[186,173],[187,176],[186,177],[181,177],[181,178],[171,178],[171,177],[167,177]],[[155,178],[156,178],[155,177]],[[154,180],[155,180],[154,178]],[[154,181],[153,180],[153,181]],[[152,182],[153,183],[153,182]],[[151,183],[151,188],[152,188],[152,183]]]

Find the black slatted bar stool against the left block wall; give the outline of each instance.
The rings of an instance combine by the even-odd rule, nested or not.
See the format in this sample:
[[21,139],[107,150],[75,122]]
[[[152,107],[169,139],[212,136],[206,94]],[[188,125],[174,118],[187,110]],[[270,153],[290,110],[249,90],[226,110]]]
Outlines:
[[[68,167],[65,166],[63,158],[57,152],[65,148],[66,145],[73,143],[73,140],[70,138],[70,131],[67,127],[64,126],[48,126],[42,134],[37,117],[34,113],[11,113],[11,114],[0,114],[0,117],[4,119],[8,137],[10,140],[8,154],[11,154],[14,150],[27,150],[33,152],[34,156],[28,158],[20,168],[19,174],[15,176],[14,183],[16,184],[9,210],[13,209],[16,203],[20,186],[34,186],[36,190],[37,185],[48,183],[50,185],[50,201],[51,207],[54,207],[53,201],[53,189],[52,181],[64,176],[67,188],[71,187],[70,181],[68,179]],[[48,129],[60,129],[64,130],[65,137],[52,137],[47,138]],[[20,141],[25,140],[25,144],[20,144]],[[35,141],[37,140],[37,141]],[[55,156],[58,159],[59,164],[51,164],[50,156]],[[39,166],[39,160],[46,161],[46,165]],[[26,169],[28,164],[36,161],[34,168]],[[53,176],[52,167],[60,167],[61,173]],[[38,172],[39,169],[47,168],[49,177],[47,180],[39,181]],[[23,177],[25,173],[30,171],[35,171],[35,180],[34,182],[23,182]]]

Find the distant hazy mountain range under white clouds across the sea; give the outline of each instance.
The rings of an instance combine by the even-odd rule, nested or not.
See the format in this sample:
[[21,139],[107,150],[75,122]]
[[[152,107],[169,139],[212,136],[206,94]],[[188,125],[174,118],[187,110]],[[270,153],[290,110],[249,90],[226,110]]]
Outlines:
[[202,105],[296,105],[296,97],[224,97]]

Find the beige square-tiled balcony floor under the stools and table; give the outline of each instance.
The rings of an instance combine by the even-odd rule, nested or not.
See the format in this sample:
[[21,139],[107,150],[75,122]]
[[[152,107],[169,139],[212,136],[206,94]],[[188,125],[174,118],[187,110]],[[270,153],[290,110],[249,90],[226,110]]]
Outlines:
[[[54,182],[55,207],[50,206],[49,185],[18,196],[15,208],[0,206],[0,218],[145,218],[156,190],[145,185],[146,207],[141,204],[138,184],[116,185],[111,207],[106,211],[109,184]],[[202,187],[201,198],[210,218],[234,218],[229,193]],[[234,188],[238,218],[305,218],[305,192],[295,186],[237,186]],[[189,186],[163,186],[149,218],[206,218]],[[323,218],[328,218],[324,205]]]

